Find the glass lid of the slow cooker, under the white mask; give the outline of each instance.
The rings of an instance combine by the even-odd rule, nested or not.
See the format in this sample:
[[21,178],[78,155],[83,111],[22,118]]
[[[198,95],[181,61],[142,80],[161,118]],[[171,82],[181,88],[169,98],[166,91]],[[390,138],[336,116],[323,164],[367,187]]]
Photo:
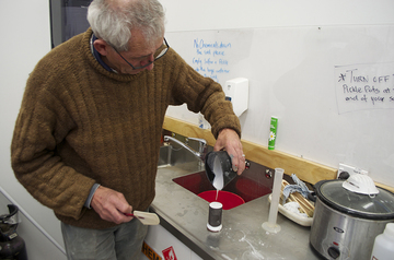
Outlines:
[[344,180],[334,180],[322,184],[317,190],[320,199],[346,212],[359,213],[361,216],[394,217],[394,194],[379,189],[375,196],[359,194],[343,187]]

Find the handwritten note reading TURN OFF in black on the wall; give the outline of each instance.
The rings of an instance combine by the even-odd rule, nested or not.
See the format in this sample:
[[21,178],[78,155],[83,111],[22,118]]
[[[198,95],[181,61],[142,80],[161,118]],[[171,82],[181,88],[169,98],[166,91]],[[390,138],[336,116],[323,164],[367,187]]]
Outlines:
[[335,67],[339,114],[394,109],[394,62]]

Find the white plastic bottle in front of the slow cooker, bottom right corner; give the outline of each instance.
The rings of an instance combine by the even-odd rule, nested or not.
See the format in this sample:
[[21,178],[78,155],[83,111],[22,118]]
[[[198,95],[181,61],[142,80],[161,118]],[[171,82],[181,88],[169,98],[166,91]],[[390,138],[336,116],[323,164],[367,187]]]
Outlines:
[[394,259],[394,223],[387,223],[383,234],[376,236],[371,260]]

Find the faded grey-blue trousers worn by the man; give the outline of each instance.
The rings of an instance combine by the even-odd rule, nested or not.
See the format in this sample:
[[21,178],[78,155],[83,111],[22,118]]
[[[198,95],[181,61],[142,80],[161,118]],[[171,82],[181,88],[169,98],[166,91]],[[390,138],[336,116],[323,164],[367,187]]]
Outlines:
[[140,259],[148,226],[137,218],[106,229],[90,229],[61,223],[69,260]]

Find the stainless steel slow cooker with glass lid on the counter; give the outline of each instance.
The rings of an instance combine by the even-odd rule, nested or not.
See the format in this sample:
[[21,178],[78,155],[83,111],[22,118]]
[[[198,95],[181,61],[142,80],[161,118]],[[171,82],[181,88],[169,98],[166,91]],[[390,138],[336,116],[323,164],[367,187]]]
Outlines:
[[394,193],[361,194],[343,187],[345,180],[315,185],[316,203],[310,244],[326,259],[370,259],[374,238],[394,222]]

